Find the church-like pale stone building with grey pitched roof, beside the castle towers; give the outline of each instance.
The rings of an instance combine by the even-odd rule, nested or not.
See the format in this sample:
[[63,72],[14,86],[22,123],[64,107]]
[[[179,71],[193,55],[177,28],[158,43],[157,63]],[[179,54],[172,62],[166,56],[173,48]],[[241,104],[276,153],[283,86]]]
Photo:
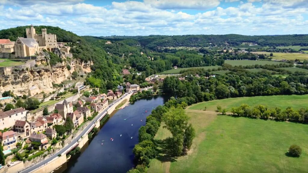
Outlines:
[[15,57],[34,56],[39,51],[39,44],[34,38],[18,37],[14,44]]

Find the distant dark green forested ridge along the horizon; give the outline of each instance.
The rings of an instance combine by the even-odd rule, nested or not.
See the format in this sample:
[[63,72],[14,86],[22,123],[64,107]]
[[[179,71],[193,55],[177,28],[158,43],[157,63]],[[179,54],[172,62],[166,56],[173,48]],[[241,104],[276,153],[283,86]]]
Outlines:
[[[149,36],[109,36],[101,37],[103,39],[119,41],[121,39],[134,39],[140,42],[142,46],[154,49],[160,47],[178,47],[194,46],[205,47],[213,45],[224,45],[228,43],[231,46],[239,46],[243,42],[256,43],[261,46],[308,46],[308,34],[294,35],[149,35]],[[212,43],[212,44],[210,44]]]

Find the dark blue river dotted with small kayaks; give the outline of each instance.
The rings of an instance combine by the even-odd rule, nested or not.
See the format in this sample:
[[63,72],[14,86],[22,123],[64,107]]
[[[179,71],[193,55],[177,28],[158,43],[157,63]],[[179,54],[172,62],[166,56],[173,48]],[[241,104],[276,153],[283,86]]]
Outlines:
[[135,166],[132,149],[138,143],[139,128],[145,125],[152,107],[163,105],[169,98],[168,95],[158,95],[138,99],[115,111],[89,144],[81,149],[81,154],[69,159],[54,173],[127,172]]

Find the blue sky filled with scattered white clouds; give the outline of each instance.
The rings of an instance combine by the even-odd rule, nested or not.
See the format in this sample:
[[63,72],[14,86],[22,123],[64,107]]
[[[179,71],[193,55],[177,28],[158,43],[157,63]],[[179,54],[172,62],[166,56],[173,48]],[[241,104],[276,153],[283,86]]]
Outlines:
[[0,23],[92,36],[308,34],[308,0],[0,0]]

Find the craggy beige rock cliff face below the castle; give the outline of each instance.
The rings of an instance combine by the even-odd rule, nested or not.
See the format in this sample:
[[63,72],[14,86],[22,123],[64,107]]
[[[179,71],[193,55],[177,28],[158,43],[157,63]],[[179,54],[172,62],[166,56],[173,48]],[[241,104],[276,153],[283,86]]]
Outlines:
[[[29,68],[19,69],[16,69],[16,67],[6,67],[6,71],[9,72],[0,74],[0,92],[10,90],[15,95],[28,95],[29,87],[36,86],[38,90],[35,92],[40,93],[43,91],[44,93],[50,93],[54,91],[52,83],[59,84],[65,80],[70,80],[71,73],[74,70],[79,72],[79,74],[91,72],[91,62],[83,64],[75,59],[72,59],[70,62],[63,59],[62,63],[52,67],[49,65],[45,66],[42,62],[46,64],[45,60],[36,60],[38,66],[34,66],[34,64]],[[67,69],[67,64],[71,66],[71,70]]]

